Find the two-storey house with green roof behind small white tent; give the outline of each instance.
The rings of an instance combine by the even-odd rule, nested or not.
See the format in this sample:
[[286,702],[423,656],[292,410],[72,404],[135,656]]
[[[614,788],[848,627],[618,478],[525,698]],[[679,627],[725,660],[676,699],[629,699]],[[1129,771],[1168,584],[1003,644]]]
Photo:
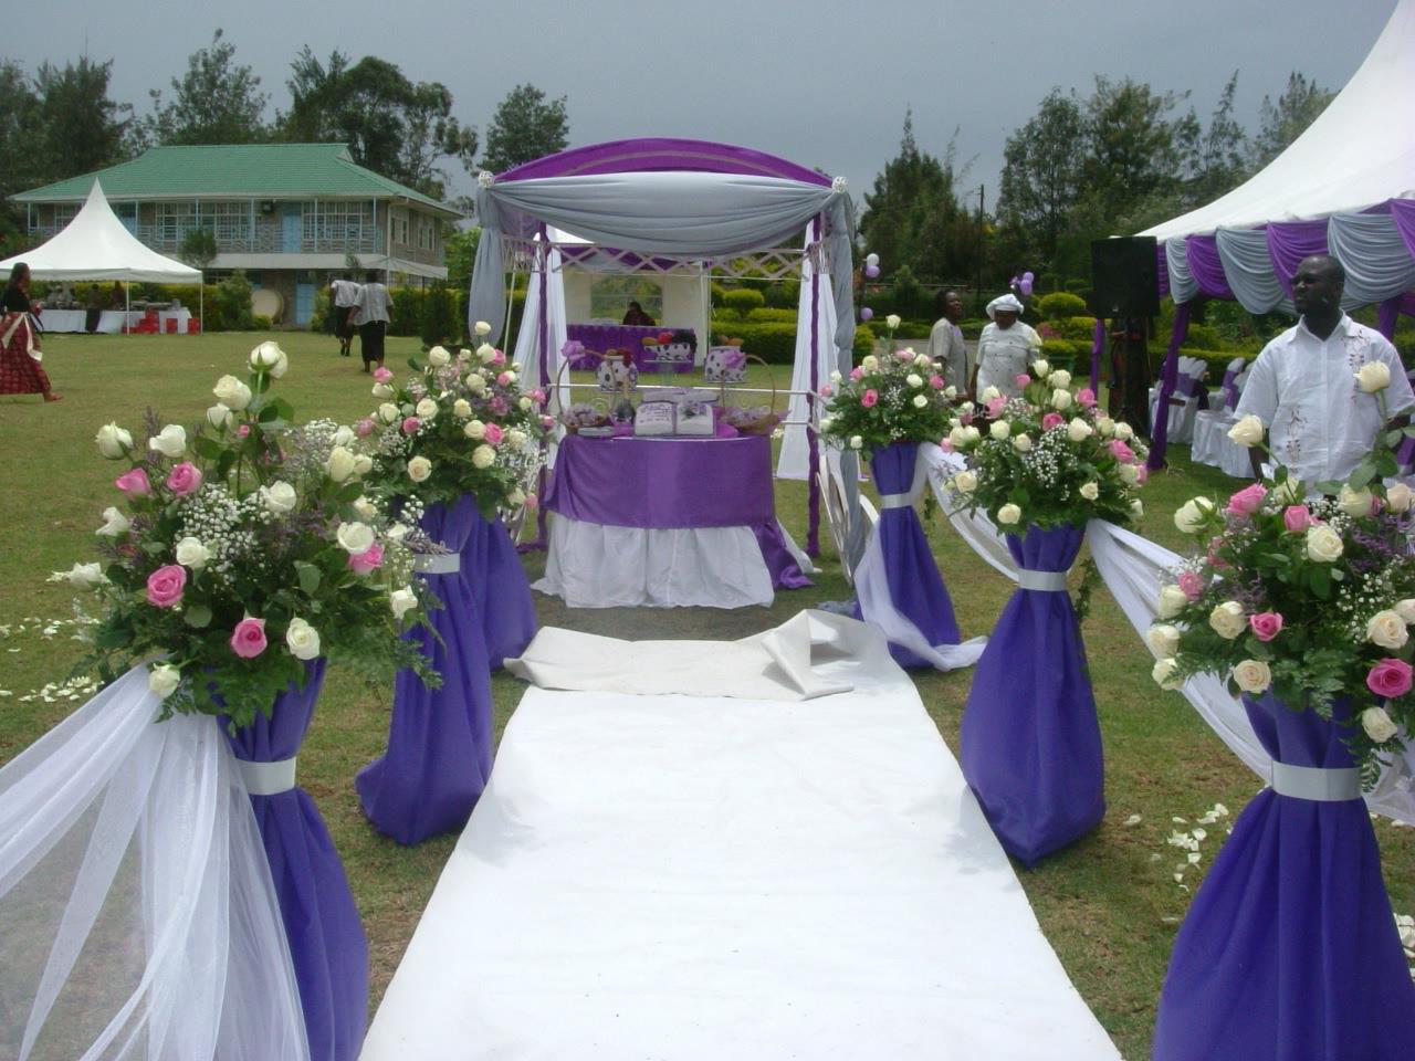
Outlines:
[[[344,144],[153,147],[132,161],[20,192],[30,235],[78,214],[93,180],[143,243],[175,255],[207,229],[208,276],[245,270],[279,291],[286,324],[307,324],[314,293],[345,270],[392,283],[443,280],[443,229],[461,212],[354,163]],[[358,276],[362,279],[362,276]]]

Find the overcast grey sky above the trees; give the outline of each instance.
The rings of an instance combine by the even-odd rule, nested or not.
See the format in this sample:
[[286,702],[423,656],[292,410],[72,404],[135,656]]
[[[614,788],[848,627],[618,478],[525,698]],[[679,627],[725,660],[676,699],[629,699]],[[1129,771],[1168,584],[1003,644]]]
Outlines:
[[[1240,71],[1238,117],[1298,69],[1327,88],[1356,71],[1395,0],[245,0],[222,8],[45,0],[8,18],[0,54],[33,72],[44,59],[113,58],[113,96],[149,109],[187,55],[222,25],[236,58],[287,105],[303,44],[374,54],[415,81],[441,81],[460,120],[485,126],[529,81],[569,98],[573,146],[631,136],[723,140],[819,166],[859,197],[914,110],[923,150],[957,129],[966,185],[989,209],[1007,134],[1053,88],[1090,92],[1092,76],[1133,76],[1191,91],[1201,119]],[[208,14],[207,11],[214,13]],[[215,11],[219,10],[219,14]],[[338,13],[337,16],[334,13]],[[457,167],[457,184],[468,187]]]

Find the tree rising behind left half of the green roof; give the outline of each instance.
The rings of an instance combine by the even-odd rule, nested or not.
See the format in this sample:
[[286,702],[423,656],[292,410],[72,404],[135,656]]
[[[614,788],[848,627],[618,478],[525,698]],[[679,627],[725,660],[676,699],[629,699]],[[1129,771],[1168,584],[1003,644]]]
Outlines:
[[187,57],[181,81],[171,79],[174,98],[166,106],[154,89],[150,137],[160,144],[248,144],[265,140],[260,78],[235,62],[236,47],[216,30],[209,48]]

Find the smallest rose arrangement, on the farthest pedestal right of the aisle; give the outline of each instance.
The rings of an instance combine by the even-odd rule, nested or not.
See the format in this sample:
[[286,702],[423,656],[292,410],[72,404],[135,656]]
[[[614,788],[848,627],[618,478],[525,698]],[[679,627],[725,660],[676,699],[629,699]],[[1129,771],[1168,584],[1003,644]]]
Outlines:
[[944,385],[927,354],[870,354],[848,378],[821,386],[821,436],[836,446],[873,451],[897,441],[934,441],[948,430],[957,390]]

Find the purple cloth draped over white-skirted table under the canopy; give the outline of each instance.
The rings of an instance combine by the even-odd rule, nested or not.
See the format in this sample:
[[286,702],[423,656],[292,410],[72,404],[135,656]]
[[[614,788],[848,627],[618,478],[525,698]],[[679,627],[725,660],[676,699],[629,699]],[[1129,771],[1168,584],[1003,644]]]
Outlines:
[[606,526],[669,530],[750,526],[781,590],[809,586],[777,525],[771,440],[582,439],[569,434],[555,457],[542,506]]

